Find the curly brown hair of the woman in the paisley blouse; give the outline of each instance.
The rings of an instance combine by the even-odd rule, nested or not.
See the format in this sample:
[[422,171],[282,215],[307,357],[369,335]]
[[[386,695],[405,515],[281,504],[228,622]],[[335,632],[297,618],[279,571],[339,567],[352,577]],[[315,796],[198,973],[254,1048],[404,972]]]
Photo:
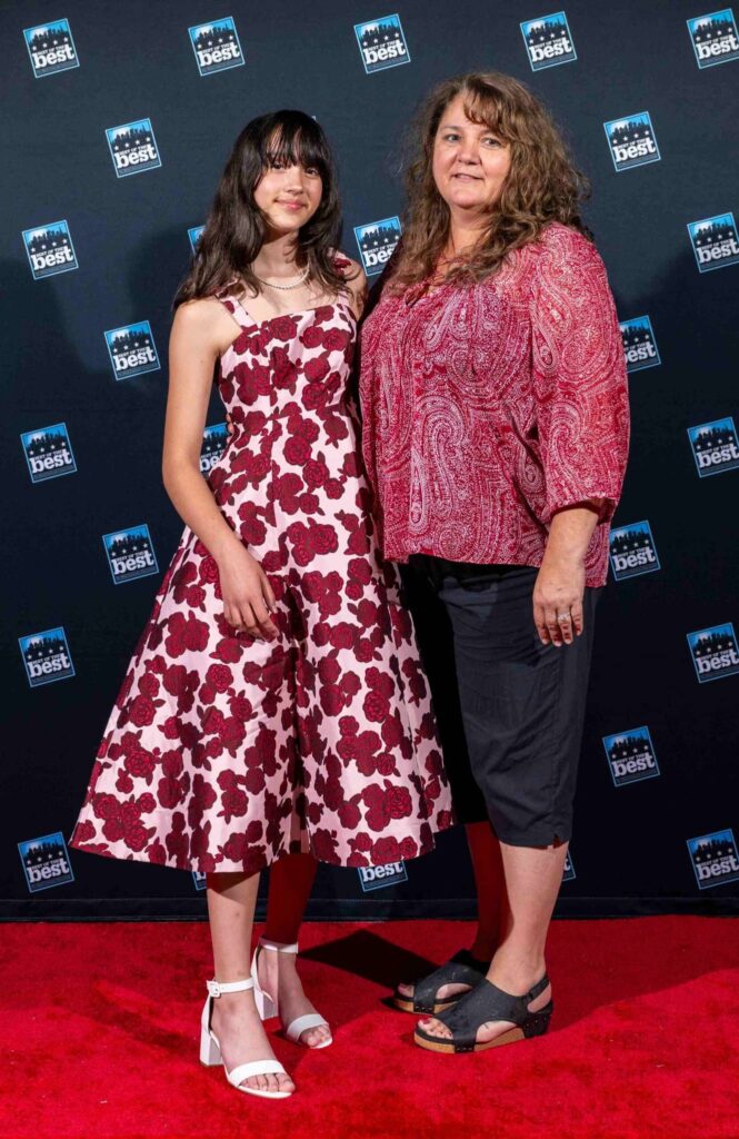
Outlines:
[[535,241],[544,226],[559,221],[592,239],[580,215],[590,187],[576,170],[547,108],[518,80],[500,72],[469,72],[440,83],[411,129],[413,154],[407,170],[408,207],[394,259],[391,290],[417,285],[436,271],[449,237],[449,206],[433,173],[436,131],[458,95],[465,113],[510,145],[511,166],[490,211],[490,224],[471,253],[452,264],[446,279],[475,284],[495,272],[512,249]]

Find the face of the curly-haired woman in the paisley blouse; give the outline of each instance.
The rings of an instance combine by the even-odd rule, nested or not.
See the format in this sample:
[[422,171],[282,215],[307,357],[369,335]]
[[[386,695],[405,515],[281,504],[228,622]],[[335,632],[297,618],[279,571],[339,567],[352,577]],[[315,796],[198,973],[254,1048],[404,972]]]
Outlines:
[[455,96],[442,113],[434,140],[434,181],[446,205],[487,212],[500,196],[510,162],[510,144],[468,118],[465,97]]

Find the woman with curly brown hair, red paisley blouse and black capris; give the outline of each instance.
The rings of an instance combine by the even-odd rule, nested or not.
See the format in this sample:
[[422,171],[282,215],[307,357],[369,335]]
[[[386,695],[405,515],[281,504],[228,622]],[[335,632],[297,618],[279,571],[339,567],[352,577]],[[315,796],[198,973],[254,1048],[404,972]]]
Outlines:
[[478,888],[471,951],[395,994],[436,1014],[416,1031],[436,1051],[543,1033],[552,1010],[544,948],[629,435],[582,188],[523,84],[443,83],[421,120],[402,245],[363,327],[383,550],[410,564],[411,593],[427,590],[416,617]]

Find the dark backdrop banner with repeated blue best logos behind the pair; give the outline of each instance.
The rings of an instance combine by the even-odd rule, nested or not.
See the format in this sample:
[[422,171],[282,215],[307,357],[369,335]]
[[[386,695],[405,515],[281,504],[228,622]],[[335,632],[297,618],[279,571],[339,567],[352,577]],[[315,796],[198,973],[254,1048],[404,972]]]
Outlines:
[[[590,177],[631,380],[560,912],[736,908],[734,10],[24,0],[0,22],[5,916],[204,911],[197,875],[66,843],[182,530],[161,478],[170,304],[232,140],[266,110],[314,115],[372,278],[413,110],[471,68],[527,82]],[[205,473],[224,442],[214,395]],[[465,916],[473,893],[457,830],[420,861],[321,867],[311,912]]]

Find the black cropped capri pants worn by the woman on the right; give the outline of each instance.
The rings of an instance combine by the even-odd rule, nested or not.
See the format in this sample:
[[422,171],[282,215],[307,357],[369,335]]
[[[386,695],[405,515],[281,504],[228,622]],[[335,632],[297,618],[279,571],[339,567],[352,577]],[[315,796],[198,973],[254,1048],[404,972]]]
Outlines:
[[429,679],[454,811],[512,846],[572,837],[596,604],[572,645],[542,645],[531,566],[413,555],[404,596]]

